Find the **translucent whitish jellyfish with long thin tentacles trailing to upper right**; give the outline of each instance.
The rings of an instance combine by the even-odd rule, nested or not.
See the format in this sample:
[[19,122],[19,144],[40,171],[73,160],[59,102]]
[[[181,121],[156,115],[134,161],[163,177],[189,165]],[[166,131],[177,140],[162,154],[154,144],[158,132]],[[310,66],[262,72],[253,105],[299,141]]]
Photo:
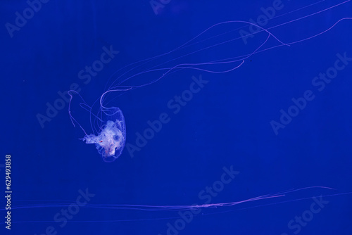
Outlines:
[[[189,41],[171,51],[126,65],[113,72],[113,75],[106,82],[103,94],[92,105],[85,102],[77,91],[69,91],[68,113],[70,120],[74,126],[78,125],[84,132],[82,140],[87,144],[95,144],[103,160],[112,162],[122,154],[126,141],[124,115],[120,108],[117,108],[117,105],[113,103],[122,94],[141,87],[151,86],[181,70],[196,70],[213,74],[233,72],[245,65],[257,53],[265,53],[282,46],[292,46],[313,39],[332,30],[343,20],[352,20],[352,18],[341,18],[325,30],[306,36],[299,35],[301,37],[293,42],[284,42],[277,37],[276,34],[278,33],[274,34],[272,32],[282,29],[284,32],[282,35],[284,35],[287,33],[287,27],[290,27],[289,25],[302,21],[302,24],[304,24],[304,20],[309,20],[346,2],[348,1],[268,28],[243,20],[231,20],[211,25],[196,37],[189,39]],[[313,5],[310,4],[303,8]],[[303,8],[284,15],[300,11]],[[256,31],[249,34],[239,34],[239,30],[246,27],[256,28]],[[252,44],[244,46],[242,40],[244,38],[249,39],[249,37],[256,37],[257,39]],[[208,59],[209,56],[211,56],[211,59]],[[80,122],[75,119],[72,113],[71,103],[75,95],[81,99],[80,107],[89,113],[90,133],[86,132],[86,129],[80,125]]]

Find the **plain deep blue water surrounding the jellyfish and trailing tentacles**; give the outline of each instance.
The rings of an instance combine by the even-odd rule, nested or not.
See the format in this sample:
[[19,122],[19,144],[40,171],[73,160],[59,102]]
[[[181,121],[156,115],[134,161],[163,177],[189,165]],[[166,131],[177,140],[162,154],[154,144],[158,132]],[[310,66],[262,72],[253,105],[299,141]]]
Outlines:
[[[317,2],[282,1],[284,7],[277,15],[294,12],[270,20],[265,27],[286,23],[341,1],[322,1],[295,11]],[[223,167],[231,166],[240,173],[211,203],[242,201],[306,186],[337,189],[309,189],[286,198],[203,209],[178,231],[294,234],[297,230],[289,229],[287,224],[310,210],[313,196],[352,191],[352,62],[323,91],[311,84],[315,76],[334,65],[337,53],[352,57],[351,20],[342,21],[320,37],[257,53],[232,72],[181,70],[115,99],[112,104],[125,115],[130,144],[134,144],[136,132],[142,133],[148,127],[148,120],[158,119],[161,113],[170,115],[170,122],[146,146],[134,152],[133,158],[125,148],[115,162],[103,162],[94,146],[79,140],[84,134],[70,122],[67,103],[50,122],[44,123],[44,128],[37,120],[38,113],[45,115],[46,103],[53,104],[60,98],[57,92],[68,90],[70,84],[79,84],[80,94],[87,103],[93,103],[119,68],[175,49],[215,23],[256,19],[263,14],[260,8],[272,3],[171,0],[156,15],[146,0],[51,0],[10,37],[5,24],[14,24],[15,12],[22,13],[28,5],[25,1],[1,1],[0,169],[4,179],[5,155],[11,154],[12,206],[34,203],[32,200],[42,205],[50,203],[46,200],[75,201],[80,189],[95,194],[92,204],[203,204],[199,192],[220,180]],[[351,10],[352,3],[347,2],[306,20],[277,27],[272,33],[283,42],[294,42],[326,30],[340,18],[351,17]],[[242,26],[230,25],[206,37]],[[234,35],[239,36],[238,32]],[[190,60],[241,56],[253,51],[266,36],[258,34],[248,44],[237,40],[235,48],[212,50],[191,56]],[[216,42],[221,39],[213,43]],[[120,53],[92,77],[92,82],[84,84],[77,73],[100,58],[103,46],[111,45]],[[267,45],[277,43],[270,41]],[[194,94],[180,113],[173,114],[168,101],[189,89],[192,76],[200,75],[208,84]],[[143,79],[152,78],[134,82],[139,84]],[[308,89],[315,99],[275,135],[270,122],[279,121],[279,110],[287,110],[291,99],[303,96]],[[82,125],[87,126],[87,122]],[[3,209],[5,201],[1,198]],[[307,199],[292,201],[298,198]],[[324,199],[329,203],[301,227],[299,234],[352,234],[351,194]],[[289,202],[278,203],[283,201]],[[84,207],[60,227],[60,223],[54,222],[54,215],[61,208],[67,206],[13,208],[12,229],[6,233],[44,234],[46,227],[53,226],[57,234],[168,234],[167,224],[175,224],[180,218],[175,211]],[[1,210],[1,217],[4,215]],[[5,230],[1,225],[1,234]]]

